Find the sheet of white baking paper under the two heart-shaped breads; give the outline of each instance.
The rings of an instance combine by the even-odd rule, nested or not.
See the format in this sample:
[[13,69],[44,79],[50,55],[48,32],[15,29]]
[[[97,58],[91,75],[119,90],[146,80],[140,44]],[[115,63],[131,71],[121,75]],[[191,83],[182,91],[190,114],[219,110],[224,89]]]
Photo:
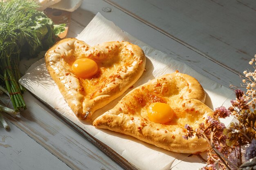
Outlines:
[[[230,101],[229,98],[233,94],[233,91],[230,89],[213,82],[207,77],[204,77],[186,64],[174,60],[172,57],[162,53],[161,51],[150,48],[145,43],[122,31],[113,22],[106,20],[106,18],[104,18],[100,13],[93,18],[77,38],[85,41],[91,46],[108,41],[122,40],[141,46],[147,57],[146,72],[144,72],[141,78],[134,84],[134,88],[148,82],[150,79],[167,73],[173,73],[178,70],[180,73],[186,73],[198,79],[207,93],[206,104],[212,109],[222,106],[222,104],[225,103],[228,104],[227,101]],[[20,79],[20,83],[31,91],[31,93],[34,93],[44,102],[49,104],[49,106],[67,117],[67,119],[72,121],[74,124],[89,132],[93,137],[107,144],[138,169],[167,170],[174,167],[188,156],[188,154],[180,154],[158,148],[128,135],[122,135],[110,130],[97,129],[90,123],[77,119],[59,92],[58,87],[48,74],[43,59],[30,67],[27,73]],[[130,90],[132,89],[129,89],[128,91]],[[126,93],[128,93],[128,91]],[[97,110],[95,115],[100,115],[113,108],[121,97]],[[231,119],[232,118],[225,119],[223,120],[223,123],[227,126]],[[196,166],[195,169],[198,168],[200,167]]]

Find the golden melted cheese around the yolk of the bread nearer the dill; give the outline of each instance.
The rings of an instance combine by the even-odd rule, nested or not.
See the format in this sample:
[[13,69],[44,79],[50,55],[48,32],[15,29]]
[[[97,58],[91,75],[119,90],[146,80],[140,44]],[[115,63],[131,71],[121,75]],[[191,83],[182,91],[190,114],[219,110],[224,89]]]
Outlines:
[[120,73],[126,72],[128,66],[131,66],[134,61],[134,54],[131,52],[132,49],[123,49],[122,46],[117,45],[106,46],[106,49],[109,49],[109,53],[90,50],[89,46],[85,46],[84,49],[75,48],[72,56],[63,59],[65,60],[63,62],[67,63],[69,66],[68,70],[72,73],[74,73],[74,71],[72,71],[72,64],[76,62],[76,58],[78,58],[77,60],[88,58],[97,62],[97,73],[85,78],[77,76],[82,86],[87,87],[86,89],[83,89],[83,95],[91,93],[89,98],[92,98],[95,93],[101,92],[104,86],[114,82],[115,79],[120,78]]

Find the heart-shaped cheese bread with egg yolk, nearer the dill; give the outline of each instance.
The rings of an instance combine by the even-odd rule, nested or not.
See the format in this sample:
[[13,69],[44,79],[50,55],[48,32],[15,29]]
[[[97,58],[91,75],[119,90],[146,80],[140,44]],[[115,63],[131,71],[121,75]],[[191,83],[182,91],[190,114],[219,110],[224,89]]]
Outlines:
[[89,46],[67,38],[47,51],[45,63],[74,114],[88,119],[139,79],[146,57],[139,46],[130,42]]

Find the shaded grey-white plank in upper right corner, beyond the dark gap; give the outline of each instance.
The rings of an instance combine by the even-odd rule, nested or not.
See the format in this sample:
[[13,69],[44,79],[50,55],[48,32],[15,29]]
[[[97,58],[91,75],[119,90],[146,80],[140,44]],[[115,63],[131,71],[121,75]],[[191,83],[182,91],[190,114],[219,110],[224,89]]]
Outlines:
[[255,1],[105,1],[236,74],[256,53]]

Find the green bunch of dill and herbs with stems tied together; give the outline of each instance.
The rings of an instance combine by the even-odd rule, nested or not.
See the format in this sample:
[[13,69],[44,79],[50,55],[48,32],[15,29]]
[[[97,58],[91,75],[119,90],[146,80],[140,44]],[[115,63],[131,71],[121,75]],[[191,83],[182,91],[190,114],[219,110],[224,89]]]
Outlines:
[[33,0],[0,1],[0,90],[9,93],[14,110],[26,109],[25,88],[18,83],[21,57],[33,57],[48,49],[65,30],[54,25]]

